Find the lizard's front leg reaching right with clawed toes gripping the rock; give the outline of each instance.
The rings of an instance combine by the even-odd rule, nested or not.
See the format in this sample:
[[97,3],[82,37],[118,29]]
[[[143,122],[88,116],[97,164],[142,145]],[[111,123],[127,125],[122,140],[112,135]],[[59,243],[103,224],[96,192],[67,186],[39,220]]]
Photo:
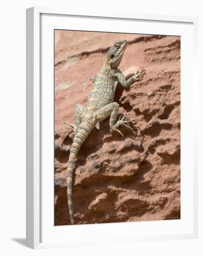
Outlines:
[[119,83],[124,87],[127,88],[131,86],[136,81],[143,80],[143,75],[146,73],[146,70],[142,69],[140,72],[138,71],[136,74],[133,74],[128,80],[125,79],[124,74],[118,69],[113,68],[112,74],[118,78]]

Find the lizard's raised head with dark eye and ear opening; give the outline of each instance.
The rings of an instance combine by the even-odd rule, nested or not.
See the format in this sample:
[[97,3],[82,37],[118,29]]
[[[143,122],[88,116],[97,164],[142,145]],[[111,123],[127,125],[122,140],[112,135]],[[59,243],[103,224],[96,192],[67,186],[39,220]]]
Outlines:
[[108,50],[107,60],[111,67],[119,66],[126,46],[127,46],[126,40],[116,40],[114,42],[114,45],[111,46],[111,48]]

